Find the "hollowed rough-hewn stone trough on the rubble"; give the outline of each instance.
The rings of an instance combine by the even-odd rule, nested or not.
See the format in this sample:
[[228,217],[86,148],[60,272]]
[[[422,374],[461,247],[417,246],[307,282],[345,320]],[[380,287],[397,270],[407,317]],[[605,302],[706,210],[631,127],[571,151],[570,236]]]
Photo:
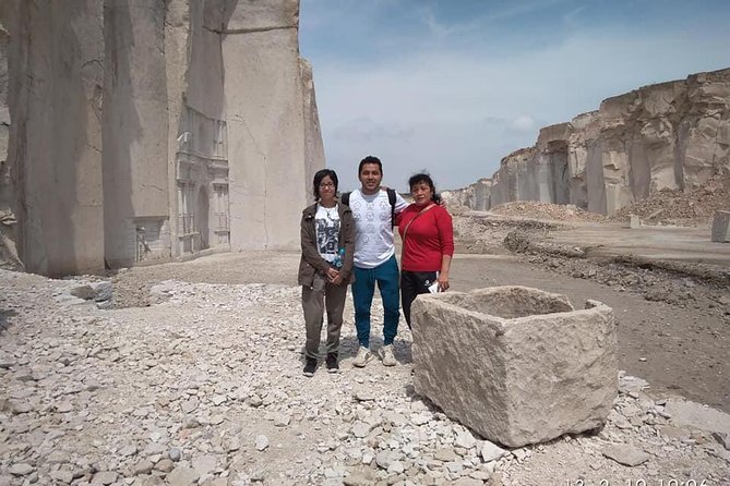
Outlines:
[[600,427],[618,393],[617,327],[607,305],[585,307],[526,287],[419,295],[416,392],[508,447]]

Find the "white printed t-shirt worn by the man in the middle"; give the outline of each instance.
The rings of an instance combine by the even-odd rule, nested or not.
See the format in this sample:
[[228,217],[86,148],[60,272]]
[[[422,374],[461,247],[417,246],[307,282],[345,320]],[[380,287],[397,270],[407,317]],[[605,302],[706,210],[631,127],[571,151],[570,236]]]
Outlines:
[[[391,203],[384,190],[375,194],[350,193],[350,209],[355,218],[355,266],[375,268],[395,254]],[[408,207],[408,203],[395,193],[395,212]]]

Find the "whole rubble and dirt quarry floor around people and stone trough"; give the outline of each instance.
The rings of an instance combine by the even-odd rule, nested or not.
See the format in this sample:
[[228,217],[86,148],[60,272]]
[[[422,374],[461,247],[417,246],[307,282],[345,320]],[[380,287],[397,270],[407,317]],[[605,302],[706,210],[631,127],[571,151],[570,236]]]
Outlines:
[[[613,307],[620,367],[638,378],[622,379],[602,430],[492,448],[414,394],[407,329],[398,366],[351,366],[349,300],[343,372],[303,378],[295,253],[123,270],[109,311],[70,296],[83,279],[0,271],[0,485],[730,484],[727,288],[507,254],[513,228],[490,228],[460,231],[481,253],[456,255],[454,290],[523,284]],[[530,234],[586,244],[579,231]]]

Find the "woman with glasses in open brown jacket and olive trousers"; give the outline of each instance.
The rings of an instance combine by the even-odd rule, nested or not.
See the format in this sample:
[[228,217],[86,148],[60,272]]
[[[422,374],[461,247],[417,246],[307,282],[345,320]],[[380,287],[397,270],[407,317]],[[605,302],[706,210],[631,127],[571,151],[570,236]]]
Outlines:
[[301,260],[299,284],[304,309],[307,345],[304,376],[314,375],[320,349],[320,333],[327,311],[327,372],[337,373],[339,332],[347,284],[352,276],[355,221],[348,206],[339,204],[337,174],[322,169],[314,174],[314,203],[301,216]]

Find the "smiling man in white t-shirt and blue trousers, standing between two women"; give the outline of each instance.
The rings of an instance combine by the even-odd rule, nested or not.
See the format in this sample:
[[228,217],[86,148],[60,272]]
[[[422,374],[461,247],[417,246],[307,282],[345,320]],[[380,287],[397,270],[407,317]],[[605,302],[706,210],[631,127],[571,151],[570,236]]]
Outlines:
[[395,207],[381,187],[383,165],[378,157],[368,156],[360,161],[358,177],[361,187],[349,195],[349,206],[355,218],[355,281],[352,303],[355,326],[358,331],[358,354],[352,364],[363,367],[373,357],[370,352],[370,308],[375,293],[375,282],[383,300],[382,359],[385,366],[396,364],[393,340],[398,332],[399,289],[398,264],[393,242],[394,212],[403,211],[408,203],[395,193]]

